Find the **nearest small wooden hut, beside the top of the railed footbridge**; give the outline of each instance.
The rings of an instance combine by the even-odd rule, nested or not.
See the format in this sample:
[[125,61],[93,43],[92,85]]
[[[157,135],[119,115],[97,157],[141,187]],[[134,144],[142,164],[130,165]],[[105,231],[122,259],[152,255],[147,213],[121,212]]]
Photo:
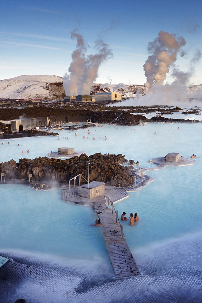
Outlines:
[[89,183],[89,188],[88,188],[88,183],[79,186],[77,189],[77,194],[79,197],[91,199],[96,196],[104,194],[104,189],[105,189],[104,185],[105,183],[103,182],[93,181]]

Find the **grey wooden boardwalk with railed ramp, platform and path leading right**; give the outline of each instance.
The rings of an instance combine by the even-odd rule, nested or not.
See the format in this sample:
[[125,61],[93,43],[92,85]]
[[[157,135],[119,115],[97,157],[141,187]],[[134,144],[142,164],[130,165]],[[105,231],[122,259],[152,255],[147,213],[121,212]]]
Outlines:
[[[165,158],[153,158],[152,163],[156,164],[157,166],[153,168],[141,168],[141,172],[144,174],[149,170],[164,169],[167,165],[193,165],[195,160],[180,158],[177,162],[165,162]],[[135,174],[140,175],[140,171],[136,171]],[[106,205],[104,196],[109,197],[111,202],[115,203],[129,197],[127,194],[128,191],[139,191],[153,180],[154,178],[144,174],[143,180],[133,187],[117,188],[114,186],[105,186],[105,193],[103,195],[99,195],[91,199],[78,197],[77,188],[74,187],[71,187],[70,192],[68,192],[68,189],[61,192],[63,201],[81,205],[91,205],[94,211],[98,213],[98,217],[101,221],[104,241],[117,278],[137,276],[140,275],[140,271],[133,258],[130,248],[127,245],[124,234],[121,235],[120,222],[116,215],[112,214],[112,209],[109,209],[109,207]],[[61,189],[64,188],[65,187],[63,186]]]

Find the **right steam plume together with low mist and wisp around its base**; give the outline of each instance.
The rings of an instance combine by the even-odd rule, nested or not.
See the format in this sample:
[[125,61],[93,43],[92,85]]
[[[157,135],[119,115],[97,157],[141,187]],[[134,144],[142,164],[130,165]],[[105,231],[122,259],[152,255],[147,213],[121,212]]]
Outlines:
[[[149,42],[148,52],[151,55],[143,66],[147,78],[147,82],[144,83],[146,95],[136,94],[135,105],[189,106],[191,103],[191,106],[200,106],[202,89],[187,87],[190,78],[194,75],[195,66],[201,58],[200,50],[194,53],[187,72],[180,71],[175,65],[177,53],[179,52],[181,57],[185,55],[182,50],[185,44],[183,37],[176,37],[175,34],[163,31],[159,32],[153,42]],[[162,85],[170,69],[174,81],[171,84]]]

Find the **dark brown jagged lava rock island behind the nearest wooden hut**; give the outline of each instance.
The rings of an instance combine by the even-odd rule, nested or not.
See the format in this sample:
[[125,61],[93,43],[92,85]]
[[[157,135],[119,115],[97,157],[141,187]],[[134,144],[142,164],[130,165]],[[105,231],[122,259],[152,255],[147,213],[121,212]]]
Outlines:
[[[66,183],[69,179],[82,174],[88,180],[88,165],[90,161],[89,181],[101,181],[106,185],[128,187],[132,184],[130,168],[121,166],[125,162],[122,154],[110,155],[96,153],[91,156],[85,154],[80,157],[73,157],[66,160],[48,157],[35,159],[20,159],[16,163],[13,159],[0,163],[0,173],[5,174],[6,179],[29,180],[28,175],[32,174],[33,181],[52,182],[55,176],[59,183]],[[82,179],[81,179],[82,180]],[[82,183],[86,181],[82,180]]]

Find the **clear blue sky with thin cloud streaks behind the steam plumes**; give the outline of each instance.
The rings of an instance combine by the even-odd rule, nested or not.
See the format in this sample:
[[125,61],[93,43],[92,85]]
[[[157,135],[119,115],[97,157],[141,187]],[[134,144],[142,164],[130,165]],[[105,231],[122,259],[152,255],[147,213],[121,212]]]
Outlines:
[[[112,84],[144,84],[147,45],[161,30],[186,40],[187,54],[176,64],[187,71],[195,51],[202,50],[201,12],[199,0],[8,0],[0,5],[0,80],[18,75],[63,76],[76,46],[70,37],[75,28],[89,44],[88,53],[95,52],[98,35],[111,46],[114,58],[101,65],[97,83],[110,77]],[[189,84],[202,83],[201,62]]]

